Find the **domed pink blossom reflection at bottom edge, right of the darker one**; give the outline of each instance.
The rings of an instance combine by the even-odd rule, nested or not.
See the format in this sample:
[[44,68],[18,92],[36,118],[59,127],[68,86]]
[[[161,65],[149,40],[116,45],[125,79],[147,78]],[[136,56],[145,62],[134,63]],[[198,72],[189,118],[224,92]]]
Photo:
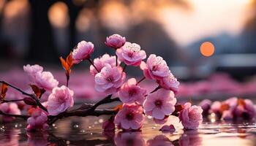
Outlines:
[[147,141],[147,146],[173,146],[170,139],[165,137],[165,135],[157,135],[154,139],[149,139]]

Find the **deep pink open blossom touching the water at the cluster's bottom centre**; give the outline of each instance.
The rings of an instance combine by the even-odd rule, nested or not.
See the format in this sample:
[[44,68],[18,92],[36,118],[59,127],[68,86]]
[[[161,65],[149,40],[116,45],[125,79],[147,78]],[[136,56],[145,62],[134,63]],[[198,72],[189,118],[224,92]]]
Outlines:
[[114,123],[124,130],[139,130],[144,120],[143,107],[138,104],[124,104],[116,114]]

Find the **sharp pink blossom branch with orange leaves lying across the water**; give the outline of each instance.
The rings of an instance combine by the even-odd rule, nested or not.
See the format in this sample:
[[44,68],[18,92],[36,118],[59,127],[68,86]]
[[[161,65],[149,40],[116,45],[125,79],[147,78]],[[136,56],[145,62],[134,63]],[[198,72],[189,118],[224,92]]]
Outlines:
[[[87,115],[111,115],[102,125],[104,131],[113,131],[116,127],[123,131],[137,131],[142,128],[146,116],[157,124],[165,124],[170,115],[178,116],[185,129],[198,128],[203,120],[203,110],[190,103],[177,104],[179,82],[162,57],[151,54],[146,58],[146,51],[140,45],[127,42],[125,37],[118,34],[107,37],[105,45],[116,50],[116,54],[105,54],[91,60],[94,44],[82,41],[66,59],[60,58],[66,71],[66,85],[59,85],[53,74],[43,71],[39,65],[23,67],[31,82],[31,94],[1,81],[1,115],[12,118],[20,115],[15,102],[4,99],[7,86],[10,86],[26,96],[19,101],[31,106],[26,108],[29,115],[16,116],[28,118],[28,130],[46,129],[51,123],[64,117]],[[89,61],[91,64],[90,73],[94,76],[95,90],[105,93],[107,97],[94,105],[83,104],[78,109],[70,110],[74,105],[75,93],[68,88],[69,77],[72,66],[82,61]],[[128,78],[125,72],[127,66],[138,67],[143,71],[143,77],[140,80]],[[147,91],[140,85],[143,80],[154,80],[156,88]],[[47,100],[40,99],[42,94],[47,96]],[[121,104],[113,110],[97,110],[99,105],[112,101],[121,101]],[[162,131],[173,129],[172,125],[161,128]]]

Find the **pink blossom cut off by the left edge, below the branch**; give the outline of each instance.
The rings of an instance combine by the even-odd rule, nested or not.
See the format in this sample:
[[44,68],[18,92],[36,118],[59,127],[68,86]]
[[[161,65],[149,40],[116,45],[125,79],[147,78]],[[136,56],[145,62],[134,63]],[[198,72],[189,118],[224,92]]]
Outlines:
[[[20,115],[20,109],[18,109],[18,105],[14,102],[0,104],[0,111],[6,114]],[[4,122],[11,122],[14,119],[13,117],[3,115]]]

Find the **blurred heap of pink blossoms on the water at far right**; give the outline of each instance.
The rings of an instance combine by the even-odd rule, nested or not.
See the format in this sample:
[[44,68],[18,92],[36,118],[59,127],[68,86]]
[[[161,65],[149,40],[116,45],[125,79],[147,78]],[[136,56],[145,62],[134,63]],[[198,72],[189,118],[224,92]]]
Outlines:
[[219,120],[255,120],[255,104],[250,99],[232,97],[225,101],[204,99],[199,104],[203,116],[214,115]]

